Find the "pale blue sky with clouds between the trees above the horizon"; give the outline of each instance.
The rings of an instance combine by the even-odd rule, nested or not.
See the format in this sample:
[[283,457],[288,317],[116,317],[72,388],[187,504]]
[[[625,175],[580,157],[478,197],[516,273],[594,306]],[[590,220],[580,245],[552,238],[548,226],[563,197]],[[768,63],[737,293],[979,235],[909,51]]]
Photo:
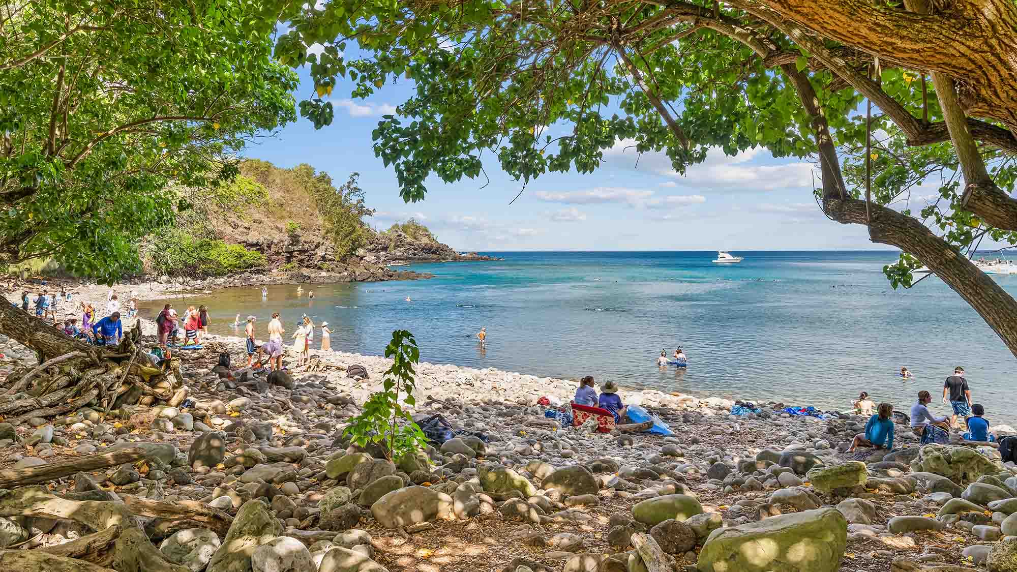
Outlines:
[[[298,101],[312,84],[306,72]],[[522,183],[495,162],[481,178],[445,184],[428,180],[427,198],[405,204],[396,176],[372,151],[371,131],[379,116],[394,113],[412,85],[385,85],[369,100],[351,100],[349,83],[331,99],[328,127],[315,131],[304,119],[261,139],[245,155],[280,167],[307,163],[344,182],[353,171],[369,207],[370,224],[386,228],[414,217],[438,239],[461,250],[693,250],[693,249],[872,249],[865,229],[823,216],[810,192],[809,162],[775,159],[763,149],[736,157],[720,150],[684,176],[661,155],[639,159],[625,141],[606,154],[593,174],[551,173],[532,181],[515,204]],[[481,188],[483,187],[483,188]],[[919,208],[920,204],[912,204]]]

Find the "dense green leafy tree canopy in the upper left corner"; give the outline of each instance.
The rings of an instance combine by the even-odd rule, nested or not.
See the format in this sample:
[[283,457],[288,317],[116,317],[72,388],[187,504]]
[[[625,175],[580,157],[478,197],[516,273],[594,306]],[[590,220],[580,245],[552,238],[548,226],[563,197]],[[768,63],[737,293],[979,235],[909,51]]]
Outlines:
[[296,119],[253,0],[15,0],[0,8],[0,262],[110,281],[172,222],[171,183],[218,184]]

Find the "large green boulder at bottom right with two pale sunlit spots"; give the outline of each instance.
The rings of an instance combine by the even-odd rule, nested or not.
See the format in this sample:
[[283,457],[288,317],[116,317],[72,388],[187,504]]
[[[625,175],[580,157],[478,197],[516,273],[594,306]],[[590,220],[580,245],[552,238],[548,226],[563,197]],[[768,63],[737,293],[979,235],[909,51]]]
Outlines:
[[825,508],[774,516],[710,534],[700,572],[836,572],[847,544],[847,521]]

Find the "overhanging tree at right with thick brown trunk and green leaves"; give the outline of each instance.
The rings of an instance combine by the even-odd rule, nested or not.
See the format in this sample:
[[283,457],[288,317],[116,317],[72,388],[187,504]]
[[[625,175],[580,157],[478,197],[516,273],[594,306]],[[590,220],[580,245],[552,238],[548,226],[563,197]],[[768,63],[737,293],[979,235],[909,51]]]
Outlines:
[[[1013,0],[333,0],[277,54],[313,62],[316,124],[340,76],[354,97],[413,81],[374,131],[406,201],[486,158],[524,184],[591,172],[621,139],[678,172],[711,147],[816,158],[819,208],[903,250],[895,286],[928,266],[1017,353],[1017,302],[964,255],[1017,242],[1015,23]],[[306,55],[352,39],[367,57]],[[897,207],[936,173],[939,201]]]

